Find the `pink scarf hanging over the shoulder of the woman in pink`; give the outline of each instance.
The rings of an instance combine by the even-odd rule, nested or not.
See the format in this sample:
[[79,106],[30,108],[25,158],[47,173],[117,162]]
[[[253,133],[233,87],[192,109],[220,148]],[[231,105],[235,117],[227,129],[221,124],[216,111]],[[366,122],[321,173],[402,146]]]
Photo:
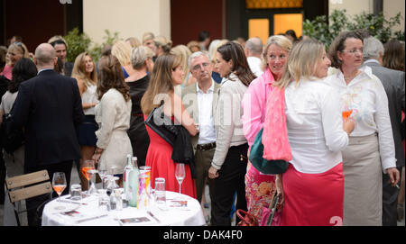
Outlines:
[[291,161],[283,88],[273,87],[266,104],[263,123],[263,158]]

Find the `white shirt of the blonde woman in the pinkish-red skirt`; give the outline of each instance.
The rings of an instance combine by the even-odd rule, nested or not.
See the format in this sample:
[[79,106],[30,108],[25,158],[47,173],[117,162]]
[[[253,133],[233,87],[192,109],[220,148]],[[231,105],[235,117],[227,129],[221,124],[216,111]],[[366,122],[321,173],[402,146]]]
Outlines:
[[[314,78],[316,79],[316,78]],[[300,80],[285,89],[291,164],[301,173],[318,174],[343,161],[348,145],[337,91],[323,80]]]

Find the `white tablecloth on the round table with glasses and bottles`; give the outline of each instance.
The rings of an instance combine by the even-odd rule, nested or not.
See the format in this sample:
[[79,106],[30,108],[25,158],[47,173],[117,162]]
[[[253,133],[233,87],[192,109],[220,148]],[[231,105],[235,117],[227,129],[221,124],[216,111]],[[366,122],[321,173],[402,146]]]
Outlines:
[[[121,225],[119,219],[148,217],[151,221],[139,224],[132,224],[138,226],[155,225],[155,226],[201,226],[205,225],[206,221],[201,210],[200,204],[194,198],[188,195],[181,194],[182,199],[188,200],[187,207],[170,207],[171,199],[179,197],[180,194],[174,192],[166,192],[167,208],[161,210],[154,203],[150,204],[147,209],[140,210],[134,207],[126,207],[122,211],[103,211],[98,208],[98,196],[88,196],[82,200],[86,204],[73,204],[73,203],[58,203],[57,200],[52,200],[47,203],[42,212],[42,226],[118,226]],[[65,200],[69,195],[62,196]],[[55,207],[63,205],[64,210],[55,210]],[[78,218],[73,218],[60,214],[60,212],[67,212],[75,210],[81,215]],[[152,215],[158,219],[154,220]],[[89,218],[93,218],[88,220]],[[86,221],[78,221],[86,220]]]

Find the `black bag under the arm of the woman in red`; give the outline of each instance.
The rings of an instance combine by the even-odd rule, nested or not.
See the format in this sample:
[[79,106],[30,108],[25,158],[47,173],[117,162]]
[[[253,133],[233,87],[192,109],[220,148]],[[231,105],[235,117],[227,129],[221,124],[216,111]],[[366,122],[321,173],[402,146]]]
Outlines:
[[163,104],[154,108],[144,123],[173,147],[180,126],[174,125],[171,118],[163,113]]

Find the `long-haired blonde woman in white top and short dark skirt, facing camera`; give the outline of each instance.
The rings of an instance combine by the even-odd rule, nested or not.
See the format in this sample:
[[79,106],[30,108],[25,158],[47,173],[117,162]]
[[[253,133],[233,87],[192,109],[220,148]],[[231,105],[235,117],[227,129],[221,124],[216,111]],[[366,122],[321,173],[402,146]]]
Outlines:
[[[78,142],[80,145],[80,167],[83,167],[85,160],[91,159],[96,149],[96,134],[98,129],[95,120],[95,106],[98,102],[96,87],[97,76],[95,62],[88,52],[82,52],[75,59],[72,69],[72,77],[76,78],[80,96],[82,98],[84,121],[78,126]],[[81,171],[80,171],[81,172]],[[79,174],[83,190],[88,190],[88,182],[84,176]]]

